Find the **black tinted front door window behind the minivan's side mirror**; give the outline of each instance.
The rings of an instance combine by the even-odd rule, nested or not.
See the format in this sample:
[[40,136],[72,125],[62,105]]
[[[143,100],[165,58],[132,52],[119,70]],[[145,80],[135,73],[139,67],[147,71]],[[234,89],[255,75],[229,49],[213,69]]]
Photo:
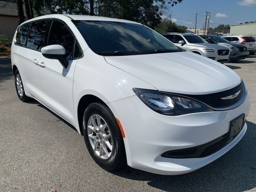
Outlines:
[[68,28],[59,21],[53,21],[49,34],[48,45],[62,45],[66,50],[66,57],[72,58],[74,37]]

